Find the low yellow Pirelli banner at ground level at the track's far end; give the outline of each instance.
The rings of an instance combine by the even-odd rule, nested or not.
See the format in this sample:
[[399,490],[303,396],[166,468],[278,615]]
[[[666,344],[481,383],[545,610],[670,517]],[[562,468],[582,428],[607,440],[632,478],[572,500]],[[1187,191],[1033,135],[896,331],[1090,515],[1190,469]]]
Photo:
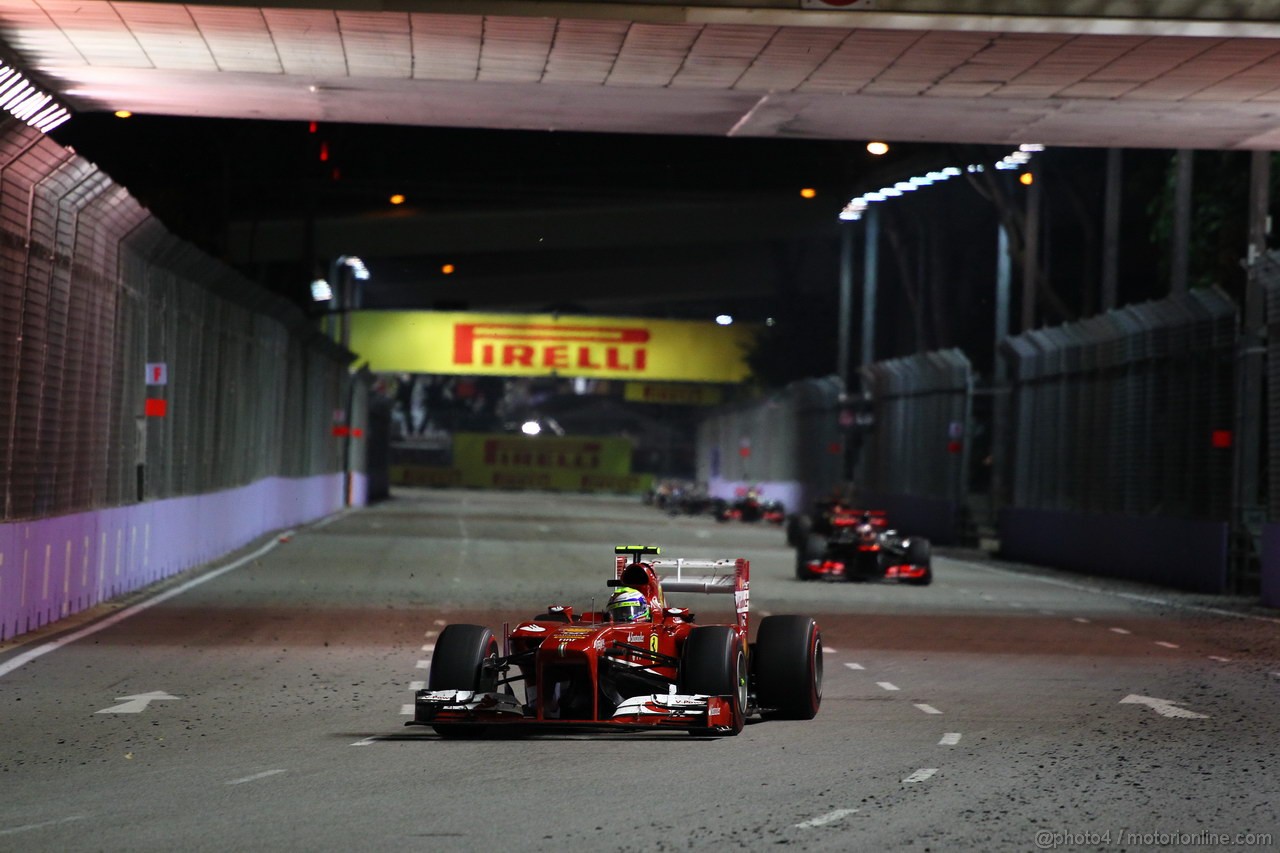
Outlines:
[[653,478],[631,473],[626,438],[563,438],[457,433],[453,465],[393,465],[398,485],[640,492]]

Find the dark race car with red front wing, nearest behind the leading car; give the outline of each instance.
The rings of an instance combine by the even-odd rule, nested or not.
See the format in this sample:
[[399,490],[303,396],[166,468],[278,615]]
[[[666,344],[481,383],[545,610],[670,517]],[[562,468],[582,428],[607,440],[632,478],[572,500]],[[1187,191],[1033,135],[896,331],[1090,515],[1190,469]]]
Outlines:
[[933,581],[932,547],[924,537],[888,529],[883,511],[836,506],[796,547],[800,580]]

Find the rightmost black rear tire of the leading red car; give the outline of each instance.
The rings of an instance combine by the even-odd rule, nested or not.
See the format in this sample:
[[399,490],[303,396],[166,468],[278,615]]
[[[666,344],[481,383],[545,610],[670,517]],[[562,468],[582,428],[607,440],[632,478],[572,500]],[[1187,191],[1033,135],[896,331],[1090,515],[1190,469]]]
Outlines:
[[808,616],[765,616],[755,637],[755,694],[765,717],[813,720],[822,704],[822,631]]

